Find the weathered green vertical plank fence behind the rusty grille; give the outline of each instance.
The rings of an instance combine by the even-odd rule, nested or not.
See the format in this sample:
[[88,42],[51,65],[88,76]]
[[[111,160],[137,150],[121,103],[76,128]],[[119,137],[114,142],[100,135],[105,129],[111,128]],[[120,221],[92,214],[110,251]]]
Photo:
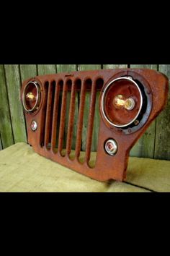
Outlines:
[[[27,142],[27,132],[25,129],[25,119],[22,104],[19,100],[19,93],[22,82],[28,77],[34,77],[37,74],[53,74],[56,72],[71,72],[76,70],[91,69],[114,69],[128,67],[127,64],[98,64],[98,65],[55,65],[55,64],[38,64],[38,65],[0,65],[0,150],[9,147],[17,142]],[[170,80],[170,65],[130,65],[132,68],[149,68],[155,69],[166,74]],[[81,148],[86,148],[86,127],[88,124],[90,93],[86,94],[86,106],[84,111],[84,127],[81,141]],[[70,95],[68,93],[68,104],[66,108],[66,127],[68,125],[68,108]],[[99,95],[97,95],[97,101]],[[169,101],[164,111],[157,117],[146,131],[146,133],[138,140],[130,151],[130,155],[158,158],[170,160],[170,92]],[[75,122],[73,127],[72,147],[75,148],[76,142],[76,121],[79,114],[79,93],[76,95]],[[97,135],[99,127],[99,113],[95,113],[93,141],[91,150],[97,148]],[[64,142],[66,143],[66,142]]]

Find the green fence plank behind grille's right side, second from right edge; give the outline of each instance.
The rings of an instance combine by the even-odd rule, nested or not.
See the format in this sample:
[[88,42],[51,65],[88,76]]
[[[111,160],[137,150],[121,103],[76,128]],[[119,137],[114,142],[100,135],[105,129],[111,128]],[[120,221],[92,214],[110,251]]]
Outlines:
[[[146,68],[157,70],[157,65],[130,65],[130,68]],[[130,150],[130,156],[153,158],[155,146],[156,120]]]

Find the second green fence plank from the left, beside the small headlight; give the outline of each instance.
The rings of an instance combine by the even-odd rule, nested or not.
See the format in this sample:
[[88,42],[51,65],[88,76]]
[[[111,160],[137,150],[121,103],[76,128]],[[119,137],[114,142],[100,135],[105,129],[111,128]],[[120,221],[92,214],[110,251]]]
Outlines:
[[4,65],[9,107],[11,111],[14,142],[27,142],[22,102],[20,101],[21,80],[18,65]]

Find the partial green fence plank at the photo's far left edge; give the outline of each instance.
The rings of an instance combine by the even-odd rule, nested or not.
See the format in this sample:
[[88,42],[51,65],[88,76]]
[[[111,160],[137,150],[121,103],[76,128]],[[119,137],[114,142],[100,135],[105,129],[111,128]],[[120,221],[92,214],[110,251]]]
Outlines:
[[3,65],[0,65],[0,113],[1,145],[7,148],[14,144],[14,140]]

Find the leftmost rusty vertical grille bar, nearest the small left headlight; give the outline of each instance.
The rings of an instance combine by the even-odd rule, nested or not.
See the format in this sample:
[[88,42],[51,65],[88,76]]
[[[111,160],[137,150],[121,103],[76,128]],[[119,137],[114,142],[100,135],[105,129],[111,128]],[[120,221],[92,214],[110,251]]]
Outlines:
[[44,145],[46,149],[50,148],[51,129],[52,129],[52,121],[53,121],[54,95],[55,95],[55,81],[50,82],[50,85],[48,88],[48,102],[47,102],[47,110],[46,110],[45,141],[44,141]]

